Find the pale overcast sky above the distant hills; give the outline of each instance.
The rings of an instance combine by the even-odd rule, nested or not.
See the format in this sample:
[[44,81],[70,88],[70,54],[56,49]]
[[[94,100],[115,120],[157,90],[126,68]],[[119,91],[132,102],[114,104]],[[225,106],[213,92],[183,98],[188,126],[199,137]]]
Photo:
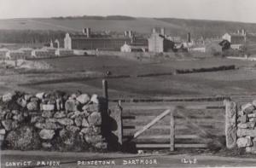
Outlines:
[[256,23],[256,0],[0,0],[0,18],[131,15]]

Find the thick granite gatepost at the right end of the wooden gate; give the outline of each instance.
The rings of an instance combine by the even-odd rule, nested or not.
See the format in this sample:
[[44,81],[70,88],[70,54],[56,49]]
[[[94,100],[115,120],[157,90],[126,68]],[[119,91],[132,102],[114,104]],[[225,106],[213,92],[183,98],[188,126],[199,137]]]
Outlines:
[[226,147],[236,147],[236,115],[237,106],[236,102],[230,100],[224,100],[225,106],[225,136],[226,136]]

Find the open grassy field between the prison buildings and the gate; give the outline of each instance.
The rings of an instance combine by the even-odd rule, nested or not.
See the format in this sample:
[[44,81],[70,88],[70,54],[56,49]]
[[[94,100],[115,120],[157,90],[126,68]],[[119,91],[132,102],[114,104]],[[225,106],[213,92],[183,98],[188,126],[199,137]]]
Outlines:
[[[247,94],[255,92],[256,74],[253,61],[236,61],[221,58],[187,61],[152,61],[140,62],[123,60],[115,57],[67,57],[44,60],[53,69],[51,73],[22,74],[28,80],[24,86],[33,90],[65,89],[83,90],[101,93],[102,78],[86,78],[78,72],[96,72],[113,75],[131,75],[131,78],[108,78],[109,96],[111,97],[154,97],[154,96],[217,96]],[[218,67],[236,65],[236,70],[224,72],[199,72],[183,75],[170,75],[137,78],[137,75],[154,72],[172,72],[175,69],[199,67]],[[251,67],[248,70],[245,67]],[[58,72],[58,73],[55,73]],[[78,77],[78,78],[75,78]],[[60,80],[56,80],[60,78]],[[40,83],[43,82],[43,83]],[[37,84],[33,84],[37,83]],[[68,87],[67,87],[68,86]]]

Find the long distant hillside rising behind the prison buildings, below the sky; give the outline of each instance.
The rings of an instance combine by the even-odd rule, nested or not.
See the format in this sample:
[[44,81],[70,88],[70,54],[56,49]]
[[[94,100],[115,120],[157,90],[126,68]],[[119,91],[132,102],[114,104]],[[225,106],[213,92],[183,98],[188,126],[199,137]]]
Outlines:
[[[188,32],[191,33],[192,38],[199,38],[201,36],[205,38],[221,37],[225,32],[236,32],[242,28],[247,30],[247,32],[256,32],[256,24],[253,23],[173,18],[134,18],[121,15],[84,15],[75,17],[0,20],[1,36],[3,36],[0,36],[0,42],[4,43],[5,40],[3,39],[8,38],[4,37],[6,34],[4,30],[15,30],[15,33],[18,33],[19,30],[40,31],[38,32],[39,35],[46,33],[48,36],[51,34],[49,31],[61,31],[62,37],[65,32],[81,32],[84,27],[90,27],[92,32],[112,31],[122,33],[131,30],[143,34],[150,34],[153,27],[165,27],[166,34],[181,36],[182,38],[185,38]],[[12,32],[8,33],[12,34]],[[24,35],[24,33],[21,35]],[[21,37],[21,35],[18,37]],[[34,36],[28,41],[35,41],[36,39],[33,38]]]

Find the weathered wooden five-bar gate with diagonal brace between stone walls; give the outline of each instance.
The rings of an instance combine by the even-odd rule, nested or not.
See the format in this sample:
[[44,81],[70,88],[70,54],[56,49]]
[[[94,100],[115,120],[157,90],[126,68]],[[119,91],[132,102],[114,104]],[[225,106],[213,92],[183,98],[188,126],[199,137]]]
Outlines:
[[[137,148],[208,148],[224,137],[223,101],[120,102],[119,142]],[[220,144],[221,145],[221,144]]]

